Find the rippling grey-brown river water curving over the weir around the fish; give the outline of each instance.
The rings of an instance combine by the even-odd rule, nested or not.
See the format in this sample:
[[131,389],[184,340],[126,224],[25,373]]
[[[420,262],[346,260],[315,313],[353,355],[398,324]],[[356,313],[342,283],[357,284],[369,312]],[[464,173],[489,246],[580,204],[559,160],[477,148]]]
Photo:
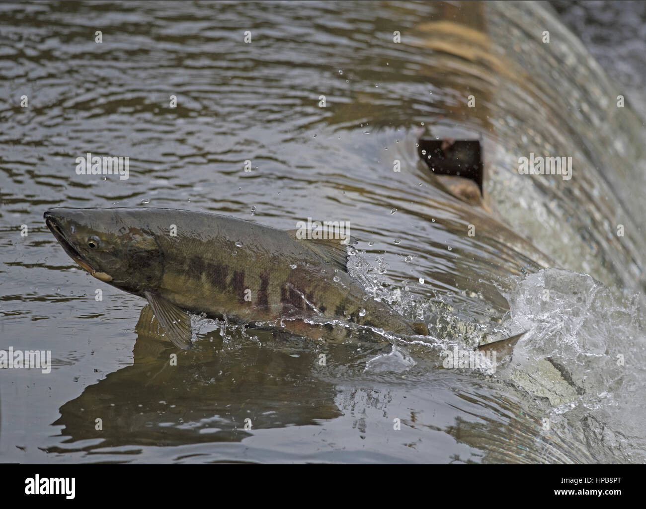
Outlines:
[[[3,461],[646,461],[643,121],[548,5],[0,12],[0,349],[54,358],[0,371]],[[421,133],[481,140],[490,212],[434,185]],[[129,180],[77,175],[86,152],[129,156]],[[530,152],[571,156],[572,179],[519,175]],[[65,255],[55,206],[348,220],[366,292],[431,335],[382,351],[196,320],[177,352]],[[493,374],[440,369],[523,331]]]

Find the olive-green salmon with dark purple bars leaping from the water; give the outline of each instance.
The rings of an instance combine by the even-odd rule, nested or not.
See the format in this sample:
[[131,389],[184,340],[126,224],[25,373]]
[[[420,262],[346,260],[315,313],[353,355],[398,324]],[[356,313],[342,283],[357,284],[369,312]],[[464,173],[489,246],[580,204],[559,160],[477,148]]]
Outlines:
[[146,298],[180,348],[190,345],[186,311],[310,337],[342,337],[339,327],[317,325],[339,318],[428,333],[366,295],[348,274],[339,239],[301,239],[295,231],[177,209],[59,208],[45,221],[90,274]]

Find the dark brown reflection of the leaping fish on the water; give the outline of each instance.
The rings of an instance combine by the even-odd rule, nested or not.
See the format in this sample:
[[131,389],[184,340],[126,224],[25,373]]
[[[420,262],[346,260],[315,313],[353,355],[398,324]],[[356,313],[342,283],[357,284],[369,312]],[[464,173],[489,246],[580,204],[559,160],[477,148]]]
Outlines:
[[[264,348],[263,342],[275,338],[258,331],[264,335],[258,344],[227,350],[214,332],[203,338],[202,348],[178,351],[160,339],[149,306],[136,330],[134,364],[61,407],[54,424],[62,424],[72,441],[103,439],[101,447],[239,441],[249,435],[245,419],[251,419],[249,429],[258,429],[340,415],[333,386],[310,383],[317,353],[306,345]],[[96,418],[103,420],[100,431],[89,426]]]

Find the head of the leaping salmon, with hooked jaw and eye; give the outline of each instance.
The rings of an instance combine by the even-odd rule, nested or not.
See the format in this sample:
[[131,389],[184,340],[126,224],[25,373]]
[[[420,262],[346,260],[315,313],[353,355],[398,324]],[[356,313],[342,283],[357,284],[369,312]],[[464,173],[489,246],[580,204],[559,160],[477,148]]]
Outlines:
[[154,234],[120,209],[50,209],[45,223],[72,260],[95,278],[141,295],[163,276]]

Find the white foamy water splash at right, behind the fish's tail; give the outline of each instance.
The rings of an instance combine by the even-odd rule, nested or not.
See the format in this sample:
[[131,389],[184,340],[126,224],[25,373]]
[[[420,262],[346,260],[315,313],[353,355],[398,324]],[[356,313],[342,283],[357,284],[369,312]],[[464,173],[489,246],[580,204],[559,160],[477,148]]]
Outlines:
[[[643,462],[643,295],[620,298],[589,275],[546,269],[516,278],[505,296],[505,325],[528,332],[498,376],[538,396],[555,422],[581,431],[597,461]],[[537,366],[553,369],[543,380],[523,375]]]

